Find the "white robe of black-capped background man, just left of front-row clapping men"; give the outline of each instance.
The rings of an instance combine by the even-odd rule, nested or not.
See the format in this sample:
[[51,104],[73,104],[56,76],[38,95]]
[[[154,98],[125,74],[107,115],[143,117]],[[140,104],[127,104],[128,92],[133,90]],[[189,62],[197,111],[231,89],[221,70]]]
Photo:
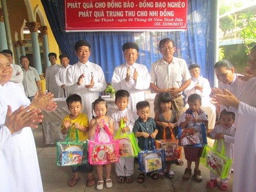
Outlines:
[[[64,98],[64,91],[65,90],[62,89],[61,86],[62,86],[62,84],[65,84],[66,74],[67,74],[67,71],[70,67],[71,67],[71,65],[68,65],[66,68],[63,67],[63,66],[60,66],[57,70],[56,75],[55,75],[55,80],[56,80],[56,83],[57,83],[58,89],[59,89],[59,93],[58,93],[59,98]],[[67,97],[67,93],[66,93],[66,97]]]

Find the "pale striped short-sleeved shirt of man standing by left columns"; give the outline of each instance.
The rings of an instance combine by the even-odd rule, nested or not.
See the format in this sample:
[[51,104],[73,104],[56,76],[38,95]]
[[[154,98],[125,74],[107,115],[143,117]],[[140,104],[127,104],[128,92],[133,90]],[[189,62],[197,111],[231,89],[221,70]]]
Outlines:
[[38,91],[36,81],[40,80],[40,77],[38,75],[38,72],[35,68],[30,67],[28,71],[25,71],[23,68],[23,86],[24,91],[27,97],[33,97],[35,96],[36,92]]

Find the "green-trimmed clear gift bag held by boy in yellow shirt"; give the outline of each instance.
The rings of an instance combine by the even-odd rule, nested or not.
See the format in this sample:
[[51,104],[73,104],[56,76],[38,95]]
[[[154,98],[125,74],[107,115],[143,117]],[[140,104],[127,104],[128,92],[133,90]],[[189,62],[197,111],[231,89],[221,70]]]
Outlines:
[[87,141],[78,141],[78,130],[76,130],[76,141],[69,141],[72,129],[71,125],[66,141],[58,141],[57,145],[57,165],[82,165],[88,162]]

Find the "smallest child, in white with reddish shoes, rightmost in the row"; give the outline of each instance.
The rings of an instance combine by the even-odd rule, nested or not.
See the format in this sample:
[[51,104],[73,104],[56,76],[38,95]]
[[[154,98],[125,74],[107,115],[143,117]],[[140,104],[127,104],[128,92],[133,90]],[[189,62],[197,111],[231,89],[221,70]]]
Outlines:
[[[233,127],[234,124],[234,116],[235,114],[233,112],[227,112],[226,110],[221,111],[220,113],[220,123],[219,125],[216,125],[214,127],[214,130],[212,130],[209,135],[212,139],[224,139],[224,146],[225,146],[225,155],[229,158],[232,158],[233,154],[233,147],[232,143],[234,143],[234,132],[235,129]],[[222,143],[219,141],[218,143],[218,151],[221,152],[222,149]],[[230,172],[228,173],[228,176],[225,179],[221,179],[221,190],[227,190],[228,186],[227,183],[230,178]],[[206,186],[209,188],[212,188],[218,184],[217,178],[219,176],[216,175],[214,172],[210,171],[210,180],[207,181]]]

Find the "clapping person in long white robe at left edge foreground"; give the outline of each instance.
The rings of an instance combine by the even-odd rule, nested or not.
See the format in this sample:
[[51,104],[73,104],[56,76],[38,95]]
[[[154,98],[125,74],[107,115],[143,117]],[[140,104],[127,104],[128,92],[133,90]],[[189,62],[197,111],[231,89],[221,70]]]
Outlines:
[[32,110],[35,101],[24,109],[30,101],[22,88],[9,81],[12,68],[3,54],[0,66],[0,190],[40,192],[43,189],[31,127],[36,128],[35,123],[41,122],[42,116],[38,114],[40,111]]

